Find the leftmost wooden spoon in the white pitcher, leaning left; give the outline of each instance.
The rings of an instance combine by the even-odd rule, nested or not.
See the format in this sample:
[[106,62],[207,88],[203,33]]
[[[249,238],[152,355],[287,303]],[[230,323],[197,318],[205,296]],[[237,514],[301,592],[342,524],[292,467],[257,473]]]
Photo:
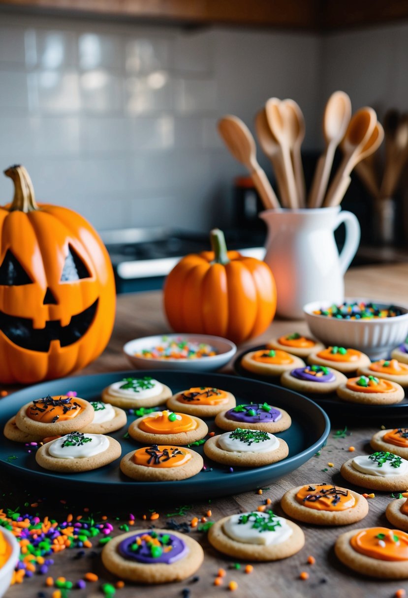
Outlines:
[[255,141],[246,124],[236,116],[227,115],[218,121],[218,132],[233,157],[248,168],[264,208],[278,209],[278,198],[257,162]]

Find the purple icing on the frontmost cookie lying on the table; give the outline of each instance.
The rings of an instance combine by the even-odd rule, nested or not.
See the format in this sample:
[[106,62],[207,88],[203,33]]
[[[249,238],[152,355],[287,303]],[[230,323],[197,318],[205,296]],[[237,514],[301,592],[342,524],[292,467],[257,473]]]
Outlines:
[[[129,538],[121,541],[118,545],[118,552],[124,559],[135,560],[138,563],[144,563],[145,565],[157,565],[159,563],[171,565],[175,561],[183,559],[189,552],[182,539],[178,536],[174,536],[172,533],[157,534],[157,539],[159,540],[161,547],[172,547],[168,552],[163,550],[160,556],[152,556],[150,543],[145,540],[142,540],[142,544],[139,546],[138,550],[132,550],[132,544],[134,544],[138,538],[145,535],[151,535],[151,532],[135,533],[134,536],[129,536]],[[169,541],[166,544],[162,544],[161,542],[163,536],[168,536],[169,538]]]

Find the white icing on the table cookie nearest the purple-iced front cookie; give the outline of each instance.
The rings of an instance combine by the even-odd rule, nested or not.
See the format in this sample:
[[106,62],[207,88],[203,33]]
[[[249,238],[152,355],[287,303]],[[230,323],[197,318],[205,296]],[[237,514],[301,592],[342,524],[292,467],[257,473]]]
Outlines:
[[[293,533],[292,528],[288,526],[287,520],[284,517],[274,517],[274,523],[280,523],[275,528],[275,531],[260,532],[258,528],[252,527],[254,525],[252,518],[249,518],[246,523],[239,523],[242,515],[251,515],[251,512],[231,515],[223,526],[227,536],[237,542],[270,546],[272,544],[282,544]],[[269,515],[265,512],[257,512],[257,515],[265,519],[269,518]]]

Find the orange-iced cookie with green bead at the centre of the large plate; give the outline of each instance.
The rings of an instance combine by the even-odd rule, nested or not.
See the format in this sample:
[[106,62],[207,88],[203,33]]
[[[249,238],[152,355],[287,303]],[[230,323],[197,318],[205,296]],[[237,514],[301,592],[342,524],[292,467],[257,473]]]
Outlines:
[[153,411],[129,426],[129,435],[143,444],[182,446],[201,440],[208,427],[199,417],[174,411]]

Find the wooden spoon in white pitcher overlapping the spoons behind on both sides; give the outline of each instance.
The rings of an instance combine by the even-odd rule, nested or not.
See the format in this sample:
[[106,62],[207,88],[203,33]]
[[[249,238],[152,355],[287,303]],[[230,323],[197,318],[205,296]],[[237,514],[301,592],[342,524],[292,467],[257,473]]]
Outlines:
[[285,122],[281,100],[278,100],[277,97],[270,97],[266,102],[265,110],[272,135],[282,150],[282,164],[288,188],[289,207],[296,209],[299,207],[299,203],[297,201],[296,183],[290,157],[291,133],[288,130],[288,124]]

